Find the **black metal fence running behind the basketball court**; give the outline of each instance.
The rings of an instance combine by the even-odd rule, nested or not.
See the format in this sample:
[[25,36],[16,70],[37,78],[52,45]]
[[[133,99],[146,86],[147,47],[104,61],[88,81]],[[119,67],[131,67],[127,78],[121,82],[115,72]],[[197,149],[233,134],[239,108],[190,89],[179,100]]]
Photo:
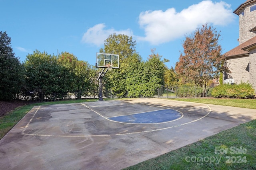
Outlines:
[[[205,98],[211,97],[212,88],[201,88],[195,86],[169,86],[162,85],[157,88],[153,98]],[[143,96],[140,95],[140,96]],[[62,100],[79,100],[79,99],[97,99],[98,89],[92,90],[92,92],[68,92],[68,93],[28,93],[20,94],[17,96],[18,99],[27,100],[32,102],[54,102]],[[103,99],[117,99],[117,98],[138,98],[138,96],[130,96],[128,92],[120,95],[112,90],[103,91]]]

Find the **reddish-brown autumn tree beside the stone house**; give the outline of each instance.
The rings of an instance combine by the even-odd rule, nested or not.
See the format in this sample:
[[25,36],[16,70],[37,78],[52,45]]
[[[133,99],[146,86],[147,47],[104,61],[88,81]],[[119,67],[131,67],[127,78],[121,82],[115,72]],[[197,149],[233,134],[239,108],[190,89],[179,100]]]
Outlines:
[[207,23],[186,36],[184,51],[180,54],[175,71],[184,83],[193,82],[197,86],[206,86],[207,82],[219,76],[227,68],[222,48],[218,44],[220,33]]

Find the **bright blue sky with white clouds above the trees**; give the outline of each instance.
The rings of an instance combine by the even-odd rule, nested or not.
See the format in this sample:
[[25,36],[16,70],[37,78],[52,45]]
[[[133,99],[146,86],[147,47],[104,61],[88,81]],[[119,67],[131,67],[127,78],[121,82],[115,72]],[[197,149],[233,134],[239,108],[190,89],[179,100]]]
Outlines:
[[208,23],[221,31],[225,53],[238,45],[239,17],[246,0],[0,0],[0,31],[12,38],[23,62],[38,49],[57,55],[67,51],[95,65],[96,53],[113,33],[132,36],[146,60],[150,49],[178,61],[185,35]]

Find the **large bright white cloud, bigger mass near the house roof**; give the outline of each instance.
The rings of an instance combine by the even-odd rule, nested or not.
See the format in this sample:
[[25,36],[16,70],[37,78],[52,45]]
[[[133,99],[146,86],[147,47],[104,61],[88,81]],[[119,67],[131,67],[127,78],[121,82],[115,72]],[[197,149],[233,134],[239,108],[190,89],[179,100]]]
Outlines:
[[234,14],[229,4],[211,0],[194,4],[181,12],[176,12],[174,8],[165,12],[141,12],[139,24],[145,31],[145,37],[138,37],[138,40],[158,45],[191,33],[202,24],[227,25],[233,20]]

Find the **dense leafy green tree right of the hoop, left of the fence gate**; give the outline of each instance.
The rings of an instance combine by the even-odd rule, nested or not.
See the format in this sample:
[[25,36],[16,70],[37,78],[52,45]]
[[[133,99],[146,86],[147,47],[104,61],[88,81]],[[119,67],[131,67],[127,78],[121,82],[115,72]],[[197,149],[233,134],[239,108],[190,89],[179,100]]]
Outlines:
[[127,61],[130,64],[127,68],[126,88],[129,96],[152,97],[156,89],[164,84],[164,70],[167,60],[161,60],[162,56],[151,50],[147,61],[142,61],[139,55],[133,55]]

